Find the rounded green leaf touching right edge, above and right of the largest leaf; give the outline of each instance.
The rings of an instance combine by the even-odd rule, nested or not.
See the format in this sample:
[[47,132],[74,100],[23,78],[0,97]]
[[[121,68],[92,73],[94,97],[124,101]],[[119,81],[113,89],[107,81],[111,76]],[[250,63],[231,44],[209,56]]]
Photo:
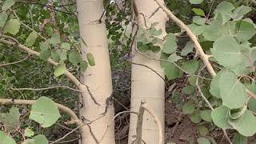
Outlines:
[[256,34],[256,29],[254,28],[254,25],[250,22],[238,22],[237,27],[238,32],[235,34],[235,36],[240,42],[248,41]]

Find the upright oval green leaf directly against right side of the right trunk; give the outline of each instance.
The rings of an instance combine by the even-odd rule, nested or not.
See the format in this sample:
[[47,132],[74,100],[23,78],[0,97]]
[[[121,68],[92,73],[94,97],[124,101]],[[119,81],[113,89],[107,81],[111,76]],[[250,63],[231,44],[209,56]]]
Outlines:
[[177,50],[177,38],[174,34],[170,33],[166,35],[166,43],[162,48],[162,52],[166,54],[172,54]]

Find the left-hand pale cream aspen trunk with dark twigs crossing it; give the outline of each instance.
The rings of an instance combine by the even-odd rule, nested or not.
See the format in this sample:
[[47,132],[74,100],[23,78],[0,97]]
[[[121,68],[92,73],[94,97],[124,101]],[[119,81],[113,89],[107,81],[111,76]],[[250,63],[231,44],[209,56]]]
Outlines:
[[[96,64],[89,66],[81,78],[81,81],[90,88],[91,94],[100,104],[100,106],[95,104],[88,91],[82,94],[83,108],[80,110],[80,114],[92,121],[102,116],[106,108],[106,98],[109,98],[112,93],[106,26],[104,22],[98,21],[103,13],[103,0],[77,0],[77,8],[80,34],[88,46],[82,46],[82,57],[86,59],[86,53],[91,53],[94,55]],[[105,116],[90,125],[94,137],[102,144],[115,143],[114,123],[108,127],[112,118],[114,118],[114,107],[109,106]],[[82,144],[97,143],[88,126],[83,126],[83,128],[86,132],[82,134]],[[106,129],[108,131],[101,141]]]

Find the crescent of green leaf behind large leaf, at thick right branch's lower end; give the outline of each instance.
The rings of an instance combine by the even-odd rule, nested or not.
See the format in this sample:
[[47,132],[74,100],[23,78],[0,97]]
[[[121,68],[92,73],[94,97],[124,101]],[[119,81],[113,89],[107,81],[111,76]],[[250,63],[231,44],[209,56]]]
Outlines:
[[210,94],[216,98],[222,98],[219,88],[219,79],[221,78],[223,71],[219,71],[217,75],[214,76],[213,80],[210,82]]

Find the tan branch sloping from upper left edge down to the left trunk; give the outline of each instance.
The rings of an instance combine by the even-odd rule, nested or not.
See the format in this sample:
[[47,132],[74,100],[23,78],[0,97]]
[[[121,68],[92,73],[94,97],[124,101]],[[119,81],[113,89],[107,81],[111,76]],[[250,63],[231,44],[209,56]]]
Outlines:
[[[7,36],[7,35],[1,35],[0,37],[2,38],[10,38],[11,40],[13,40],[14,42],[10,42],[10,41],[7,41],[5,39],[0,39],[0,43],[4,43],[6,45],[9,45],[9,46],[14,46],[14,47],[17,47],[18,49],[20,50],[24,50],[26,51],[28,54],[31,54],[31,55],[34,55],[34,56],[37,56],[39,57],[39,53],[35,50],[31,50],[30,48],[28,48],[27,46],[24,46],[22,44],[20,44],[18,42],[17,39],[15,38],[12,38],[10,36]],[[54,65],[54,66],[58,66],[58,62],[54,62],[53,59],[51,58],[48,58],[47,59],[47,62],[49,62],[50,64]],[[70,78],[70,81],[74,82],[74,85],[78,87],[79,90],[82,90],[82,83],[78,80],[78,78],[74,77],[73,74],[71,74],[68,70],[65,71],[64,73],[66,75],[67,78]]]

